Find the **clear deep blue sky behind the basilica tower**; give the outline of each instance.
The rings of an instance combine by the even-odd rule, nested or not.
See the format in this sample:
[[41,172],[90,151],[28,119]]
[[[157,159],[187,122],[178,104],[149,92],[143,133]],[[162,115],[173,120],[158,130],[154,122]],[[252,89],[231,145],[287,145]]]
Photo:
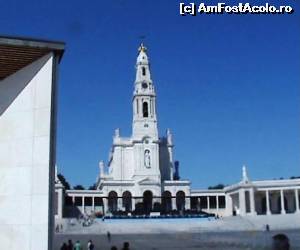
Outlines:
[[[0,33],[66,42],[57,163],[91,185],[115,128],[131,133],[145,35],[160,133],[192,186],[300,175],[300,4],[292,15],[179,15],[180,1],[1,1]],[[210,1],[209,4],[216,3]],[[231,3],[237,3],[231,1]],[[251,1],[253,3],[253,1]]]

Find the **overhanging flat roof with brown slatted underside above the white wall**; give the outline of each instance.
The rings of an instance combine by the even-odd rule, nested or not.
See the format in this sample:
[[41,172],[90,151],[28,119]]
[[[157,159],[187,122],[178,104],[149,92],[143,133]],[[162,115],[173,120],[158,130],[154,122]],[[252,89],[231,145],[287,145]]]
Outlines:
[[61,59],[65,43],[0,35],[0,80],[53,52]]

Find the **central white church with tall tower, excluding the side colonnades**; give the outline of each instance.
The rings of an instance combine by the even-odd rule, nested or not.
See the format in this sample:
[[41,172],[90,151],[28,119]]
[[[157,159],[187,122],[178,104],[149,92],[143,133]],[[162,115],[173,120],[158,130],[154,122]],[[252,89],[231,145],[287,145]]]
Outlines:
[[[159,137],[156,92],[151,79],[146,48],[141,45],[136,61],[132,99],[132,136],[122,137],[116,129],[107,167],[101,161],[97,189],[112,197],[126,196],[126,209],[135,209],[132,197],[143,197],[145,210],[154,197],[190,195],[190,182],[174,180],[173,141],[168,129]],[[106,170],[106,171],[105,171]],[[126,193],[124,194],[124,191]],[[117,202],[112,210],[119,209]],[[110,206],[109,206],[110,207]]]

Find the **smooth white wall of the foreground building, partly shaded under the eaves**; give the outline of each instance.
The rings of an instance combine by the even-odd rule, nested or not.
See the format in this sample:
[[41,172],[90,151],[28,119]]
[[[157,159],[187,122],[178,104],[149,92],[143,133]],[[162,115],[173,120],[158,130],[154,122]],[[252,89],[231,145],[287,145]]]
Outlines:
[[48,249],[52,61],[0,81],[1,249]]

